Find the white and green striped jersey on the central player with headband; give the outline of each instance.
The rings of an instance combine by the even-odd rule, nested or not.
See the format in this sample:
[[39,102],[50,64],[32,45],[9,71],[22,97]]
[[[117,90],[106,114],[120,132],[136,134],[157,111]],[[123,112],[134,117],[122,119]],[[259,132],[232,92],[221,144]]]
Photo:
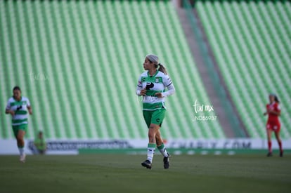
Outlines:
[[[175,92],[172,80],[167,74],[157,71],[153,76],[145,71],[138,78],[136,94],[141,95],[141,90],[146,88],[146,94],[143,96],[143,110],[152,111],[161,109],[164,106],[164,97],[172,95]],[[166,91],[168,88],[168,91]],[[162,93],[162,98],[157,98],[155,93]]]

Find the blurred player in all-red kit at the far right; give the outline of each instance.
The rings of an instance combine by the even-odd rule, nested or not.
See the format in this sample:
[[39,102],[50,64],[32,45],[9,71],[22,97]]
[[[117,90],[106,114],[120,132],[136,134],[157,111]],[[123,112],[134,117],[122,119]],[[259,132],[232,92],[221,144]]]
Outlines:
[[272,156],[272,142],[271,142],[271,135],[272,131],[275,132],[276,139],[278,141],[278,145],[280,148],[280,157],[283,157],[283,149],[282,149],[282,141],[280,139],[280,107],[279,107],[279,100],[278,97],[275,94],[269,95],[270,103],[266,105],[266,112],[264,115],[268,114],[268,121],[266,124],[266,131],[268,136],[268,148],[269,152],[267,154],[267,157]]

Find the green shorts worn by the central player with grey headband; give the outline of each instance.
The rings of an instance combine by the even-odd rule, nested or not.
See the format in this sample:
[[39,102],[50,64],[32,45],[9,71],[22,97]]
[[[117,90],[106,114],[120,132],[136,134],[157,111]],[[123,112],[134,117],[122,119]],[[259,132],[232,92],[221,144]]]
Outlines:
[[164,114],[166,109],[156,109],[154,111],[143,111],[143,119],[145,123],[150,128],[150,124],[156,124],[162,126],[162,121],[164,120]]

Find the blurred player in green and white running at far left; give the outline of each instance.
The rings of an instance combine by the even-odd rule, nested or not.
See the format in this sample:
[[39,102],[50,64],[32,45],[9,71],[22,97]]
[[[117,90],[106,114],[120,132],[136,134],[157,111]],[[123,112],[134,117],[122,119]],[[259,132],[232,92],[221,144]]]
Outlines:
[[30,100],[21,96],[19,86],[13,88],[13,96],[9,98],[5,113],[12,116],[12,128],[14,136],[17,140],[17,146],[20,152],[20,161],[25,162],[23,140],[27,130],[27,111],[32,114],[32,107],[30,107]]

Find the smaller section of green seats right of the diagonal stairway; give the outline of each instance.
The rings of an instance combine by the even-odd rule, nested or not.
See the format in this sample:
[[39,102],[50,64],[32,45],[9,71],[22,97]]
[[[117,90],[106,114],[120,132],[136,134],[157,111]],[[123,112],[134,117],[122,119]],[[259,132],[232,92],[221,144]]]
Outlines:
[[195,1],[228,91],[252,138],[265,138],[269,93],[281,101],[281,135],[291,136],[290,1]]

